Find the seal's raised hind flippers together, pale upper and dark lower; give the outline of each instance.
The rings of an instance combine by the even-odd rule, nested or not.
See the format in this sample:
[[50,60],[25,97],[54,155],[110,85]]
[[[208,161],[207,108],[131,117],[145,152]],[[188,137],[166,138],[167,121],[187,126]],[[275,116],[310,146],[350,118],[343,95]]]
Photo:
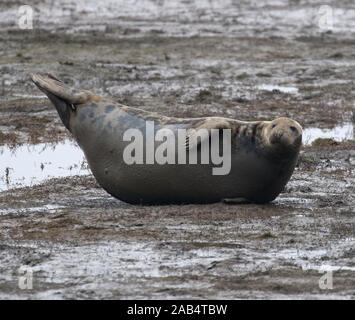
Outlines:
[[75,111],[76,105],[88,103],[98,98],[89,91],[71,88],[52,73],[47,76],[31,73],[30,76],[34,84],[54,104],[63,124],[69,131],[71,131],[69,126],[70,115]]

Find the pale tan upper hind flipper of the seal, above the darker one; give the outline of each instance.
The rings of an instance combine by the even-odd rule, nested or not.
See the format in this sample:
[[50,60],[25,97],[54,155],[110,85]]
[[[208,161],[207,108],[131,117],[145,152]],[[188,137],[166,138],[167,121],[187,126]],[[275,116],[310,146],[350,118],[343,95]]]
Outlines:
[[89,91],[71,88],[52,73],[49,73],[47,76],[31,73],[30,76],[34,84],[50,99],[49,94],[63,100],[69,105],[76,105],[87,103],[95,97]]

